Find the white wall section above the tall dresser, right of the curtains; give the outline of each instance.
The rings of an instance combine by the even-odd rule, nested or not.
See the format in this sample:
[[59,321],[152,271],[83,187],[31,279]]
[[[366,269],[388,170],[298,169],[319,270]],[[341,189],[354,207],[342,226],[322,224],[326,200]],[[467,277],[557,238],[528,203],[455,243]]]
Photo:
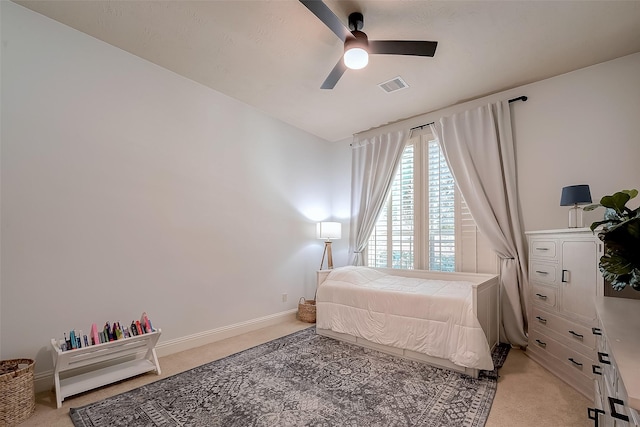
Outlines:
[[[640,189],[640,54],[534,83],[513,106],[527,230],[566,227],[561,189],[589,184],[594,203]],[[632,202],[637,206],[638,202]],[[585,225],[603,209],[585,213]]]

